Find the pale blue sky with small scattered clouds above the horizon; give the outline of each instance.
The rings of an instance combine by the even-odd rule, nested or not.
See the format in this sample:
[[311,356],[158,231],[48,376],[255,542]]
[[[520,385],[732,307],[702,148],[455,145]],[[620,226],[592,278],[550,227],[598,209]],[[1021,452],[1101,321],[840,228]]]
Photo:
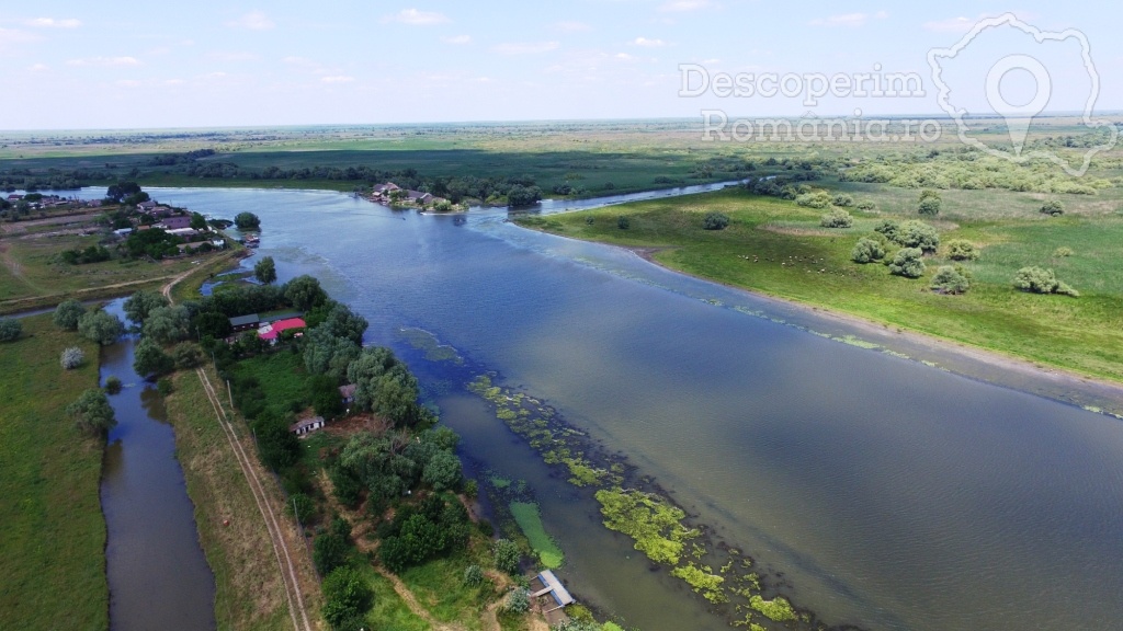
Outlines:
[[8,0],[0,129],[1102,113],[1110,6]]

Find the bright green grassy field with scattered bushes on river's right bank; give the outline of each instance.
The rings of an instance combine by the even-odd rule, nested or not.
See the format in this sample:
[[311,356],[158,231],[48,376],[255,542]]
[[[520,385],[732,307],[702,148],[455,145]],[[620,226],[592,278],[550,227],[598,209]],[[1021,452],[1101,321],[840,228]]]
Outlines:
[[[903,194],[876,188],[865,193],[879,207],[889,205],[878,199],[879,194]],[[958,195],[948,195],[947,210],[933,222],[943,243],[966,238],[983,247],[982,258],[965,265],[975,276],[966,295],[929,291],[935,267],[951,263],[940,255],[925,260],[928,272],[920,280],[892,276],[878,264],[850,260],[855,241],[879,219],[916,218],[915,213],[852,211],[852,228],[825,229],[819,227],[821,210],[727,190],[519,221],[581,239],[665,248],[654,257],[674,269],[888,327],[1123,381],[1123,259],[1119,257],[1123,216],[1088,212],[1046,218],[1029,201],[1033,199],[1029,193],[975,193],[987,196],[988,212],[962,208]],[[915,200],[916,191],[909,194]],[[702,219],[711,211],[728,214],[729,228],[704,230]],[[618,228],[618,216],[630,218],[629,229]],[[1071,247],[1075,254],[1054,257],[1060,246]],[[1014,290],[1011,280],[1028,265],[1054,268],[1081,296]]]

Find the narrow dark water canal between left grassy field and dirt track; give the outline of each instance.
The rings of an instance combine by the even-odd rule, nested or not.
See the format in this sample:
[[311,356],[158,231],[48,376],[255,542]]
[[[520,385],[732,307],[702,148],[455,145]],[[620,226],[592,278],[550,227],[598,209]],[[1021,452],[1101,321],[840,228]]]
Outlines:
[[[124,320],[121,303],[108,310]],[[163,396],[133,372],[135,344],[135,336],[125,336],[101,351],[102,383],[115,375],[125,384],[109,397],[117,427],[101,479],[109,627],[214,629],[214,577],[199,547],[175,436]]]

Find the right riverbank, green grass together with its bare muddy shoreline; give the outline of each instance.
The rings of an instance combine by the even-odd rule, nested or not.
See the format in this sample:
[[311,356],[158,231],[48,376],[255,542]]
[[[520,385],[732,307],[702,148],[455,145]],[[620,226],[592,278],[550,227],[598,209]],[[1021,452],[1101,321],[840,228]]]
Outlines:
[[[701,213],[712,210],[729,214],[731,226],[722,231],[703,230]],[[629,217],[629,229],[618,228],[619,216]],[[857,328],[879,346],[903,342],[979,365],[978,369],[966,369],[940,363],[952,372],[985,381],[993,381],[996,373],[1010,373],[1014,376],[1006,375],[1001,383],[1012,387],[1022,387],[1021,377],[1047,382],[1048,386],[1026,390],[1095,411],[1106,408],[1106,402],[1114,406],[1106,411],[1123,414],[1123,355],[1119,351],[1123,339],[1116,339],[1119,317],[1108,310],[1121,302],[1120,296],[1085,294],[1074,300],[1033,295],[1016,292],[1008,284],[980,281],[973,283],[967,295],[940,295],[928,291],[924,278],[889,276],[880,265],[859,266],[849,260],[850,246],[873,227],[873,218],[858,219],[860,225],[855,229],[841,231],[816,229],[818,218],[819,211],[788,201],[723,191],[524,217],[515,223],[627,248],[673,272]],[[806,222],[806,229],[769,229],[798,221]],[[1016,226],[1004,226],[1010,227]],[[953,230],[985,238],[975,226]],[[958,236],[949,230],[944,239]],[[983,260],[987,254],[984,250]],[[1098,252],[1084,254],[1098,256]],[[929,263],[929,275],[937,264],[943,263]],[[982,267],[971,263],[966,267],[973,265]],[[978,275],[1001,277],[990,269]],[[1085,402],[1081,396],[1069,396],[1070,390],[1094,391],[1094,396]]]

